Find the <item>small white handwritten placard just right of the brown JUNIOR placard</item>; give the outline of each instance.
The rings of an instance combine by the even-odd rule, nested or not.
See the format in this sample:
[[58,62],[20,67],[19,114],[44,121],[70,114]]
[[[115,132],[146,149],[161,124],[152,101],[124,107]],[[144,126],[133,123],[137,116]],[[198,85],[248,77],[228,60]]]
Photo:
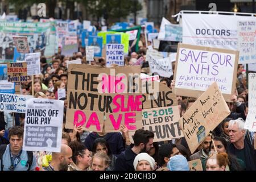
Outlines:
[[25,55],[27,62],[27,75],[39,75],[41,73],[40,52],[27,53]]

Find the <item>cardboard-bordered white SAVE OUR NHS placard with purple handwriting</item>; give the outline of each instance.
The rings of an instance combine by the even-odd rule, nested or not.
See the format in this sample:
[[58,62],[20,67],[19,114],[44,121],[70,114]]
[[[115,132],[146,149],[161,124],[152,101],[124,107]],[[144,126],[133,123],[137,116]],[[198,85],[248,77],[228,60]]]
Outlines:
[[214,81],[226,101],[236,86],[239,51],[179,44],[175,65],[175,89],[180,96],[198,98]]

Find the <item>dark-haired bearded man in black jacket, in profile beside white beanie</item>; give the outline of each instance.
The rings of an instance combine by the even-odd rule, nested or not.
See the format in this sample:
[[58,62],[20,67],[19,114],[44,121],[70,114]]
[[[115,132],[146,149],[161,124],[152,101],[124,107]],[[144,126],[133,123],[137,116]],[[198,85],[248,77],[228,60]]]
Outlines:
[[141,152],[149,152],[153,148],[154,133],[148,130],[139,129],[133,136],[134,146],[128,147],[115,162],[114,171],[134,171],[133,162]]

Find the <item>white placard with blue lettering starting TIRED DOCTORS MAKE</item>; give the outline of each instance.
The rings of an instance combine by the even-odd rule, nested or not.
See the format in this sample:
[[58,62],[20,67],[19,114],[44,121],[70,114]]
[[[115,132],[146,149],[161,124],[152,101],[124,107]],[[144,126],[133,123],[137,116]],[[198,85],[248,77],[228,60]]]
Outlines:
[[106,44],[106,67],[111,67],[112,64],[125,65],[123,44]]

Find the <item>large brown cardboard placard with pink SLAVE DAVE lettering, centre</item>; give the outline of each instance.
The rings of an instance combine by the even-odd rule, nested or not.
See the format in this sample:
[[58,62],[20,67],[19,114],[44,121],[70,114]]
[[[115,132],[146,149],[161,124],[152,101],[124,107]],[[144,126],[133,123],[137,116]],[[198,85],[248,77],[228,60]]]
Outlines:
[[[129,73],[134,73],[135,81],[139,80],[140,70],[139,66],[102,68],[69,65],[65,127],[73,129],[76,125],[84,130],[101,132],[105,120],[105,132],[119,131],[123,124],[129,130],[141,129],[138,121],[141,121],[142,95],[139,86],[133,85],[129,78]],[[123,79],[120,81],[121,75]],[[121,88],[120,84],[123,85]],[[128,89],[124,85],[128,85]]]

